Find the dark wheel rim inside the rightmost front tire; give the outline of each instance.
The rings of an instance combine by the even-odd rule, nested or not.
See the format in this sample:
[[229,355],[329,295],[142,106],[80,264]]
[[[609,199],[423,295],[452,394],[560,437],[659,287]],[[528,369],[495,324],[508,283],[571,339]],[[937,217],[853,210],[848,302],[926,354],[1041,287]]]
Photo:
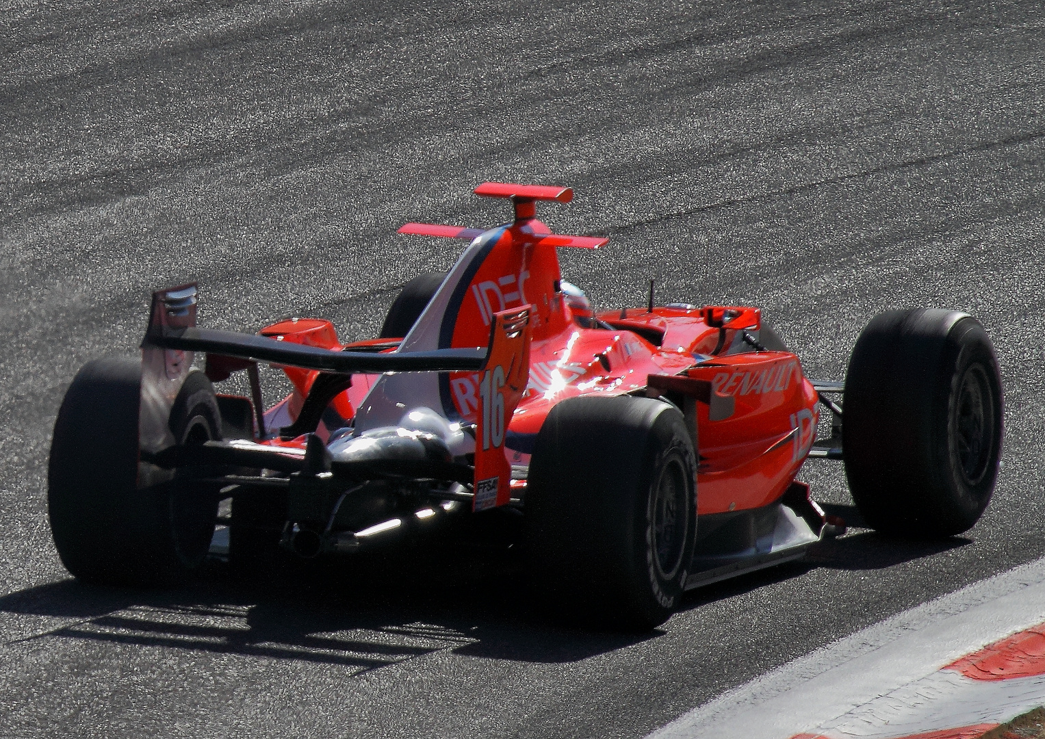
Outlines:
[[996,437],[994,394],[980,365],[968,367],[951,412],[951,449],[969,485],[988,474]]

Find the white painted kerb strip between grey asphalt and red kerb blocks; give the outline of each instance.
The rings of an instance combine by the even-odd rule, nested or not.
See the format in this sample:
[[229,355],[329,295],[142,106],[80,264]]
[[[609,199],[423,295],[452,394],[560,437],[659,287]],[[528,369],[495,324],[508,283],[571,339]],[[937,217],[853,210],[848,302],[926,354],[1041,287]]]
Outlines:
[[841,728],[842,717],[854,718],[875,698],[1043,621],[1045,558],[821,647],[694,709],[650,739],[787,739],[836,719]]

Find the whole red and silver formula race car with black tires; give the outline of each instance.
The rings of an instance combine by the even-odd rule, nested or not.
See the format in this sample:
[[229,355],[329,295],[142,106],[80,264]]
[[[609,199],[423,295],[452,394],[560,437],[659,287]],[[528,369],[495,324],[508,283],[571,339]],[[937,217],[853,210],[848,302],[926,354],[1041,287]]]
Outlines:
[[[646,629],[689,588],[844,531],[795,480],[807,458],[841,460],[882,532],[948,536],[983,512],[1002,390],[974,318],[882,314],[844,384],[811,380],[758,308],[658,306],[651,287],[646,306],[593,311],[556,250],[607,239],[535,217],[570,189],[475,194],[510,200],[514,221],[403,226],[468,246],[402,288],[376,339],[342,344],[312,318],[200,328],[194,284],[155,293],[141,360],[89,363],[59,411],[48,504],[68,570],[147,584],[199,568],[216,527],[245,571],[511,511],[552,613]],[[268,409],[258,363],[294,386]],[[215,393],[239,372],[243,395]]]

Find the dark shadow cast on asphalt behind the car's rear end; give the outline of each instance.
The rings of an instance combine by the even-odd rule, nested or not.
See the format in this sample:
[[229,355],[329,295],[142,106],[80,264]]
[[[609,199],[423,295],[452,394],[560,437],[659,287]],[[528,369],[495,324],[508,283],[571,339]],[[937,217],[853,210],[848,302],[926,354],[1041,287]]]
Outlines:
[[38,619],[30,639],[295,660],[356,674],[440,650],[524,662],[584,660],[655,638],[558,628],[534,613],[514,555],[345,567],[318,562],[242,582],[215,562],[177,588],[69,579],[0,597]]

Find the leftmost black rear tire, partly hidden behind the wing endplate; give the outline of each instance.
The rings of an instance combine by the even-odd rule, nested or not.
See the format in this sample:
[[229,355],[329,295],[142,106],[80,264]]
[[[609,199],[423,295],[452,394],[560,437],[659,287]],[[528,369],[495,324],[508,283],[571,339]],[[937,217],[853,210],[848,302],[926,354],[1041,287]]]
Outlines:
[[[138,488],[140,397],[139,361],[95,360],[76,373],[54,422],[51,533],[66,569],[88,582],[145,585],[194,571],[213,536],[212,495],[186,485]],[[202,372],[186,377],[169,424],[181,443],[220,438],[214,390]]]

